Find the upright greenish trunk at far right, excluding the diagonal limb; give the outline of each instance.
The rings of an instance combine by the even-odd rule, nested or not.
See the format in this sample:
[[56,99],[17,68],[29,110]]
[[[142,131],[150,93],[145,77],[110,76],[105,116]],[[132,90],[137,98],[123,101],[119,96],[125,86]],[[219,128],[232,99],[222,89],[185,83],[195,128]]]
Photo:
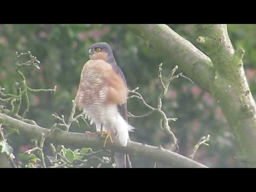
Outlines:
[[198,24],[196,28],[198,43],[215,67],[211,92],[236,136],[243,161],[256,167],[256,104],[244,73],[244,50],[234,51],[226,24]]

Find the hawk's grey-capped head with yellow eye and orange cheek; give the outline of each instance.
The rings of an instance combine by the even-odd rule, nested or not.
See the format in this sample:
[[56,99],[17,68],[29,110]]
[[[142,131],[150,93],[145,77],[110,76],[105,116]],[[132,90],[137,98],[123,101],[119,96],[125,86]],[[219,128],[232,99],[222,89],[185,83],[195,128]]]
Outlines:
[[114,59],[111,47],[105,42],[92,44],[88,53],[91,60],[102,59],[105,61],[110,61]]

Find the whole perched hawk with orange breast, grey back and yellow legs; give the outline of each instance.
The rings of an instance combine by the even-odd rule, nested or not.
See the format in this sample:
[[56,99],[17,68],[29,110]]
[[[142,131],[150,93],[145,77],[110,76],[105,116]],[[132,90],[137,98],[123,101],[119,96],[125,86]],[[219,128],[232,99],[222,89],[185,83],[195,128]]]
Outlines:
[[[117,65],[110,45],[97,42],[90,46],[88,60],[82,69],[75,102],[95,124],[98,134],[112,143],[127,146],[129,132],[126,78]],[[128,154],[114,152],[117,168],[132,168]]]

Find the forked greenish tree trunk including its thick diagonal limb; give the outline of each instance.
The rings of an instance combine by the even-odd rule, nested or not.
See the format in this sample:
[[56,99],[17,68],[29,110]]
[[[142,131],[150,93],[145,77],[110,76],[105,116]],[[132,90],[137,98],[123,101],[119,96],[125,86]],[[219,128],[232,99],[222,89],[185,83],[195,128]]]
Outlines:
[[165,24],[124,26],[162,56],[174,60],[189,78],[214,96],[241,148],[238,159],[256,167],[256,104],[244,73],[244,50],[234,51],[226,24],[196,25],[197,43],[205,54]]

